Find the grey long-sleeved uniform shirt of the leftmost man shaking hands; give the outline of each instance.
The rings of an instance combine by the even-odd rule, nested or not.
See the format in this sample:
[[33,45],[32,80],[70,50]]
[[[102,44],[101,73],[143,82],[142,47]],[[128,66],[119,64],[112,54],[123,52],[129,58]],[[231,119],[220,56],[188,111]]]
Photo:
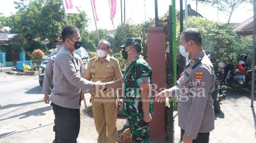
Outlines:
[[67,47],[58,52],[53,68],[53,90],[50,101],[65,108],[79,109],[81,89],[89,92],[93,82],[81,77],[81,65]]

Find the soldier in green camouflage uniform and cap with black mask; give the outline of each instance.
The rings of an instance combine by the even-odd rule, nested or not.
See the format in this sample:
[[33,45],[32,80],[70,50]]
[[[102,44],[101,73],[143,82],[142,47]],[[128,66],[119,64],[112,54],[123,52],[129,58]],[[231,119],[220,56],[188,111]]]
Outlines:
[[152,70],[141,56],[140,39],[128,38],[122,48],[123,58],[130,65],[120,80],[105,83],[105,87],[118,88],[124,84],[123,114],[129,120],[133,142],[150,142],[149,122],[153,115]]

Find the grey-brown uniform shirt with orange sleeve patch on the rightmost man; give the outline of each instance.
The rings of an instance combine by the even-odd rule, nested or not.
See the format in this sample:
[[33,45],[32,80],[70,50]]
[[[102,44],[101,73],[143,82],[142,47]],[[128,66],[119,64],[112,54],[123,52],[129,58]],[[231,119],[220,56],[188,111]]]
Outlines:
[[[198,58],[202,58],[201,62],[193,67]],[[173,88],[173,91],[178,93],[179,126],[193,139],[198,133],[213,130],[215,117],[211,93],[215,89],[214,68],[205,51],[185,67],[177,82],[179,88]]]

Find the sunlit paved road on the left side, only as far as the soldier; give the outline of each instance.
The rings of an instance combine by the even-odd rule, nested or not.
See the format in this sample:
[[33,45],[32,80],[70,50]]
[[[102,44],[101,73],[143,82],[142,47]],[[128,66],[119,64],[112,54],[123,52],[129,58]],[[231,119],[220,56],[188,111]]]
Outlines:
[[[37,76],[28,76],[0,83],[0,142],[51,142],[54,138],[54,115],[49,104],[43,102]],[[90,95],[86,95],[89,103]],[[81,129],[78,140],[83,143],[97,142],[93,115],[86,113],[82,102]],[[118,119],[118,129],[125,119]]]

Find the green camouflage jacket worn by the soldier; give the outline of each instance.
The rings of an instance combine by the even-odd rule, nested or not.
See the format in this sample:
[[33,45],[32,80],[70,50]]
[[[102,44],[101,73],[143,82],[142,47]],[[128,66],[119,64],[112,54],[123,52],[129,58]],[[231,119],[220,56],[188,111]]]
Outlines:
[[[152,84],[152,70],[149,64],[138,55],[130,66],[126,69],[122,77],[125,86],[125,95],[123,95],[123,114],[130,120],[143,119],[143,109],[141,100],[141,89],[139,85]],[[149,112],[153,114],[153,97],[150,89],[150,107]]]

